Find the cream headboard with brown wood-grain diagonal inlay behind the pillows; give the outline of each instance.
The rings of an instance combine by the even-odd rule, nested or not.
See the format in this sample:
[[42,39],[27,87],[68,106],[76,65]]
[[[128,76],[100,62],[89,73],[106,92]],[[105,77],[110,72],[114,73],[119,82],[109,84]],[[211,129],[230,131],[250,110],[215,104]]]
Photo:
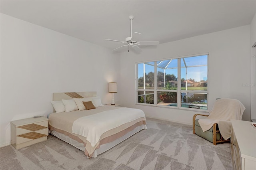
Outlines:
[[62,99],[73,99],[73,98],[86,98],[96,96],[96,91],[86,92],[66,92],[66,93],[52,93],[52,101],[60,101]]

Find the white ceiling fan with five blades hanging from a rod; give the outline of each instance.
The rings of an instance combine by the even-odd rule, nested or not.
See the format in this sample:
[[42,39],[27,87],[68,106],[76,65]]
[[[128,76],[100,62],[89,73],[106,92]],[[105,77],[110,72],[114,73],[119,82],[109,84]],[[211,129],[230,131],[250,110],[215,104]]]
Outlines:
[[[116,48],[116,49],[119,49],[121,47],[126,47],[128,46],[128,52],[130,51],[130,46],[132,46],[132,48],[136,51],[136,52],[140,52],[142,51],[142,49],[140,49],[140,45],[158,45],[159,42],[138,42],[138,38],[139,36],[141,35],[141,33],[138,33],[138,32],[134,32],[134,34],[132,35],[132,20],[134,19],[134,16],[129,16],[129,19],[131,20],[131,34],[130,34],[130,37],[127,37],[125,39],[125,41],[118,41],[118,40],[110,40],[110,39],[106,39],[108,41],[113,41],[113,42],[121,42],[123,43],[124,45]],[[113,49],[116,50],[116,49]]]

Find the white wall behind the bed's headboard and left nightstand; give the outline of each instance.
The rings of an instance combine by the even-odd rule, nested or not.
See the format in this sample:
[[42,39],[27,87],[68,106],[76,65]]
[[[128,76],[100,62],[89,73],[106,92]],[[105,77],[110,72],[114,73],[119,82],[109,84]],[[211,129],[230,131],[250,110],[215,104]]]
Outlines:
[[10,121],[52,113],[54,92],[97,91],[102,103],[110,103],[108,82],[118,80],[118,55],[5,14],[0,17],[0,146],[10,144]]

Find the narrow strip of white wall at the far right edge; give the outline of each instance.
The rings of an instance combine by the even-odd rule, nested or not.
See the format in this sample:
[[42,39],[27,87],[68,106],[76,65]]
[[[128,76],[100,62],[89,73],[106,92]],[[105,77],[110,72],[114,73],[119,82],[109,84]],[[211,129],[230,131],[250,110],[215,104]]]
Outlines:
[[251,36],[250,36],[250,67],[251,67],[251,118],[256,119],[256,47],[252,45],[256,42],[256,14],[251,22]]

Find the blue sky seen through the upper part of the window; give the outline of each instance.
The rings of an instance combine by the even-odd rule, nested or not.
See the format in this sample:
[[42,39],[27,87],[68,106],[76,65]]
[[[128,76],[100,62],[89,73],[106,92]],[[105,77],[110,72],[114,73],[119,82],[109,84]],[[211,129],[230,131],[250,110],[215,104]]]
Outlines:
[[[194,79],[195,81],[200,80],[207,80],[207,66],[200,66],[200,67],[189,67],[189,66],[195,66],[195,65],[207,65],[207,57],[208,55],[201,55],[196,57],[186,57],[184,58],[187,68],[187,74],[188,79]],[[181,60],[181,67],[184,67],[184,60],[183,58]],[[166,67],[166,65],[169,63],[169,60],[164,60],[162,63],[160,61],[157,61],[157,64],[160,63],[158,66]],[[154,62],[150,62],[151,64],[154,64]],[[154,72],[154,66],[147,65],[146,64],[146,73]],[[172,59],[168,67],[178,67],[178,59]],[[167,68],[168,68],[167,67]],[[158,68],[157,71],[164,72],[164,69]],[[176,77],[178,77],[178,69],[166,69],[166,74],[174,74]],[[143,64],[138,64],[138,78],[143,76]],[[181,78],[186,79],[186,68],[181,69]]]

